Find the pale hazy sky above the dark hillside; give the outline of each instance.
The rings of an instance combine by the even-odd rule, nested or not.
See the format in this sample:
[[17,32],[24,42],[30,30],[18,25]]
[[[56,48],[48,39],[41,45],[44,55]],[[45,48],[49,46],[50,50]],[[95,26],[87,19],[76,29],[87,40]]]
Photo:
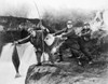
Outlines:
[[[52,10],[53,9],[53,10]],[[39,18],[45,11],[108,9],[107,0],[0,0],[0,15]]]

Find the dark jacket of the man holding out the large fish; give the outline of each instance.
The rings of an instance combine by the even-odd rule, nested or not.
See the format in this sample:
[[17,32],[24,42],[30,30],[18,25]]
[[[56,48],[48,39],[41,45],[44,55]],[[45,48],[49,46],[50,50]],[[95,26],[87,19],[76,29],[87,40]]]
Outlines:
[[42,51],[43,50],[43,40],[46,37],[48,31],[44,30],[36,30],[36,37],[32,37],[31,34],[29,34],[28,37],[18,40],[18,44],[23,44],[23,43],[27,43],[30,42],[38,51]]

